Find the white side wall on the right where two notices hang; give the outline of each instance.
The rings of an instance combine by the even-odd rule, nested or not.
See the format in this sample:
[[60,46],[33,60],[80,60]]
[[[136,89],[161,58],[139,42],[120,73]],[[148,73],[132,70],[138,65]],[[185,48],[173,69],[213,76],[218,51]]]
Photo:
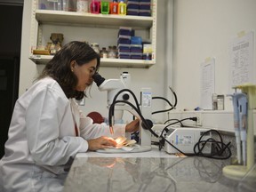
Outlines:
[[[173,10],[173,87],[178,109],[200,106],[200,63],[207,57],[215,58],[216,93],[230,93],[228,44],[240,31],[255,33],[256,1],[174,0]],[[255,55],[254,51],[254,64]],[[228,98],[225,108],[232,110]]]

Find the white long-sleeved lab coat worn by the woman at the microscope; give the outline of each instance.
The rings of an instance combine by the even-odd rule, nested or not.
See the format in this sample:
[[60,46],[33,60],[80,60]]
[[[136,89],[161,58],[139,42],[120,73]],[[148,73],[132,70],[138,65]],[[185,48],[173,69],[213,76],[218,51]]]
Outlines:
[[[115,125],[116,136],[124,136],[124,127]],[[106,124],[92,124],[52,78],[39,80],[16,101],[0,160],[0,191],[61,191],[72,158],[87,151],[86,140],[102,135],[110,136]]]

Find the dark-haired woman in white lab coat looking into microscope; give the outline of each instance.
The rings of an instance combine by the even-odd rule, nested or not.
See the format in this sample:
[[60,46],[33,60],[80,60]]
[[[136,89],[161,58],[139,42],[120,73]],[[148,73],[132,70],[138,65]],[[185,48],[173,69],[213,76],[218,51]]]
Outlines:
[[[63,177],[76,153],[116,146],[107,137],[109,128],[92,124],[76,104],[99,67],[100,57],[90,45],[66,44],[16,101],[0,161],[1,191],[58,191],[62,183],[50,188],[45,178]],[[116,125],[114,137],[137,131],[138,126],[138,120]]]

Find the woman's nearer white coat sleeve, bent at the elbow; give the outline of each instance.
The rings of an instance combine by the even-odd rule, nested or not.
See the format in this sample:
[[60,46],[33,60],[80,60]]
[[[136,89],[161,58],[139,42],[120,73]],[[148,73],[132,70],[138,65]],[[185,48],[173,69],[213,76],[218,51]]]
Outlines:
[[[32,97],[26,112],[26,126],[28,149],[36,164],[66,164],[70,156],[87,151],[88,143],[81,137],[67,134],[60,138],[60,124],[69,108],[67,98],[50,87]],[[67,125],[64,129],[73,127]]]

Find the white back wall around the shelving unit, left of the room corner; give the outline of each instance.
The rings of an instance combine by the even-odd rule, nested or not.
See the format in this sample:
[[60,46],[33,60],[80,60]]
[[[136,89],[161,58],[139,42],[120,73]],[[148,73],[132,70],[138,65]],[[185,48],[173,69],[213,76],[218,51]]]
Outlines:
[[[44,66],[36,65],[34,62],[28,59],[28,52],[30,52],[29,47],[29,37],[30,34],[30,22],[31,22],[31,2],[32,0],[26,0],[24,2],[24,15],[22,24],[22,41],[21,41],[21,60],[20,60],[20,94],[26,91],[26,89],[31,86],[33,80],[38,73],[42,71]],[[165,78],[167,73],[165,71],[165,36],[166,36],[166,20],[165,20],[165,4],[169,4],[168,0],[158,1],[157,4],[157,45],[156,45],[156,65],[145,69],[145,68],[100,68],[100,74],[105,78],[119,78],[123,71],[128,71],[132,76],[132,92],[134,92],[139,99],[140,88],[141,87],[151,87],[153,91],[153,96],[164,95],[164,90],[166,90]],[[65,30],[65,28],[63,29]],[[110,32],[109,32],[110,33]],[[65,36],[65,40],[68,36]],[[170,83],[171,84],[171,83]],[[170,85],[167,84],[167,85]],[[102,116],[108,115],[107,106],[107,92],[99,92],[95,86],[92,86],[91,90],[92,98],[85,100],[85,107],[82,108],[85,114],[91,111],[98,111]],[[153,110],[159,110],[164,108],[164,102],[154,101]],[[127,115],[129,116],[129,115]],[[130,116],[132,118],[132,116]],[[162,120],[163,115],[154,116],[156,121]]]

